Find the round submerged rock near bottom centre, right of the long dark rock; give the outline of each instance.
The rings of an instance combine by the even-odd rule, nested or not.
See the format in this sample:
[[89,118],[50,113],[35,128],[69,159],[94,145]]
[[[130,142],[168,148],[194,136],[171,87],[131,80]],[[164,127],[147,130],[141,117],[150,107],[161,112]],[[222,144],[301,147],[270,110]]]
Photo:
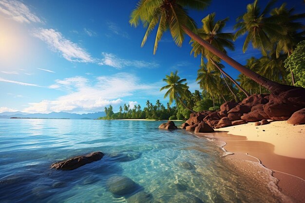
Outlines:
[[126,195],[133,193],[138,185],[126,176],[114,176],[107,180],[107,188],[114,195]]

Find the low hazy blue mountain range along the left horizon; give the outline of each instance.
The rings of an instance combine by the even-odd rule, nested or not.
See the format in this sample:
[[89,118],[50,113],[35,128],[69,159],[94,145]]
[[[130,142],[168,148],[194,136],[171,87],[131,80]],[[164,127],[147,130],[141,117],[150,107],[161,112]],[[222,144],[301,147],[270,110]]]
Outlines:
[[24,113],[17,111],[14,113],[12,112],[3,112],[0,113],[0,118],[11,118],[11,117],[18,117],[18,118],[68,118],[68,119],[96,119],[98,117],[105,116],[106,113],[104,111],[99,111],[96,113],[68,113],[68,112],[51,112],[51,113]]

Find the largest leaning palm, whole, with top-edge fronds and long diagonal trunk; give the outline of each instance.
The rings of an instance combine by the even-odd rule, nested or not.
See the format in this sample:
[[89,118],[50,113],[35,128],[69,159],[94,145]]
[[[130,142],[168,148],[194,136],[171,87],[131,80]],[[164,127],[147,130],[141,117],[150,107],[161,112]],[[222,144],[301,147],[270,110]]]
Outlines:
[[182,45],[184,34],[187,34],[211,53],[227,62],[242,74],[247,75],[255,82],[266,87],[271,92],[279,93],[292,89],[293,87],[291,86],[278,84],[245,68],[243,65],[194,33],[196,32],[195,22],[190,16],[188,16],[185,7],[203,10],[209,3],[210,0],[140,0],[133,10],[129,22],[135,27],[142,22],[142,24],[147,27],[141,46],[145,44],[147,38],[152,33],[152,30],[158,24],[153,48],[154,54],[163,33],[169,29],[174,42],[178,46]]

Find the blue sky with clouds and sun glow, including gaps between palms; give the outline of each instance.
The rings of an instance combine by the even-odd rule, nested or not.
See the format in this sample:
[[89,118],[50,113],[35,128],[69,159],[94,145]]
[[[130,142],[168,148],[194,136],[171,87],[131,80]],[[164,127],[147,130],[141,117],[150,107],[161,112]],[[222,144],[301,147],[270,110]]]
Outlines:
[[[225,32],[234,32],[235,19],[253,0],[212,0],[204,11],[189,11],[200,27],[201,19],[215,12],[229,17]],[[279,0],[276,5],[281,5]],[[165,75],[178,70],[191,92],[199,90],[196,75],[200,58],[190,55],[190,38],[177,47],[169,32],[153,55],[155,32],[144,47],[143,26],[129,24],[137,0],[0,0],[0,112],[87,113],[112,105],[140,104],[159,99]],[[267,1],[261,0],[263,7]],[[295,13],[305,10],[303,0],[287,0]],[[261,54],[245,36],[235,41],[228,55],[245,64]],[[233,78],[239,72],[223,63]]]

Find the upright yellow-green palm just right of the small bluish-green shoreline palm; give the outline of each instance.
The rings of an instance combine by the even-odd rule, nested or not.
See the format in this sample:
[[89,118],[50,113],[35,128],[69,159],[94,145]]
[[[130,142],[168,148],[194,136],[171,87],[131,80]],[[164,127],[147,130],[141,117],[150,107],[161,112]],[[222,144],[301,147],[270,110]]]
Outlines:
[[196,81],[199,81],[198,84],[201,89],[206,90],[212,96],[215,110],[214,94],[219,92],[217,84],[220,83],[220,77],[215,71],[209,71],[204,63],[197,72]]

